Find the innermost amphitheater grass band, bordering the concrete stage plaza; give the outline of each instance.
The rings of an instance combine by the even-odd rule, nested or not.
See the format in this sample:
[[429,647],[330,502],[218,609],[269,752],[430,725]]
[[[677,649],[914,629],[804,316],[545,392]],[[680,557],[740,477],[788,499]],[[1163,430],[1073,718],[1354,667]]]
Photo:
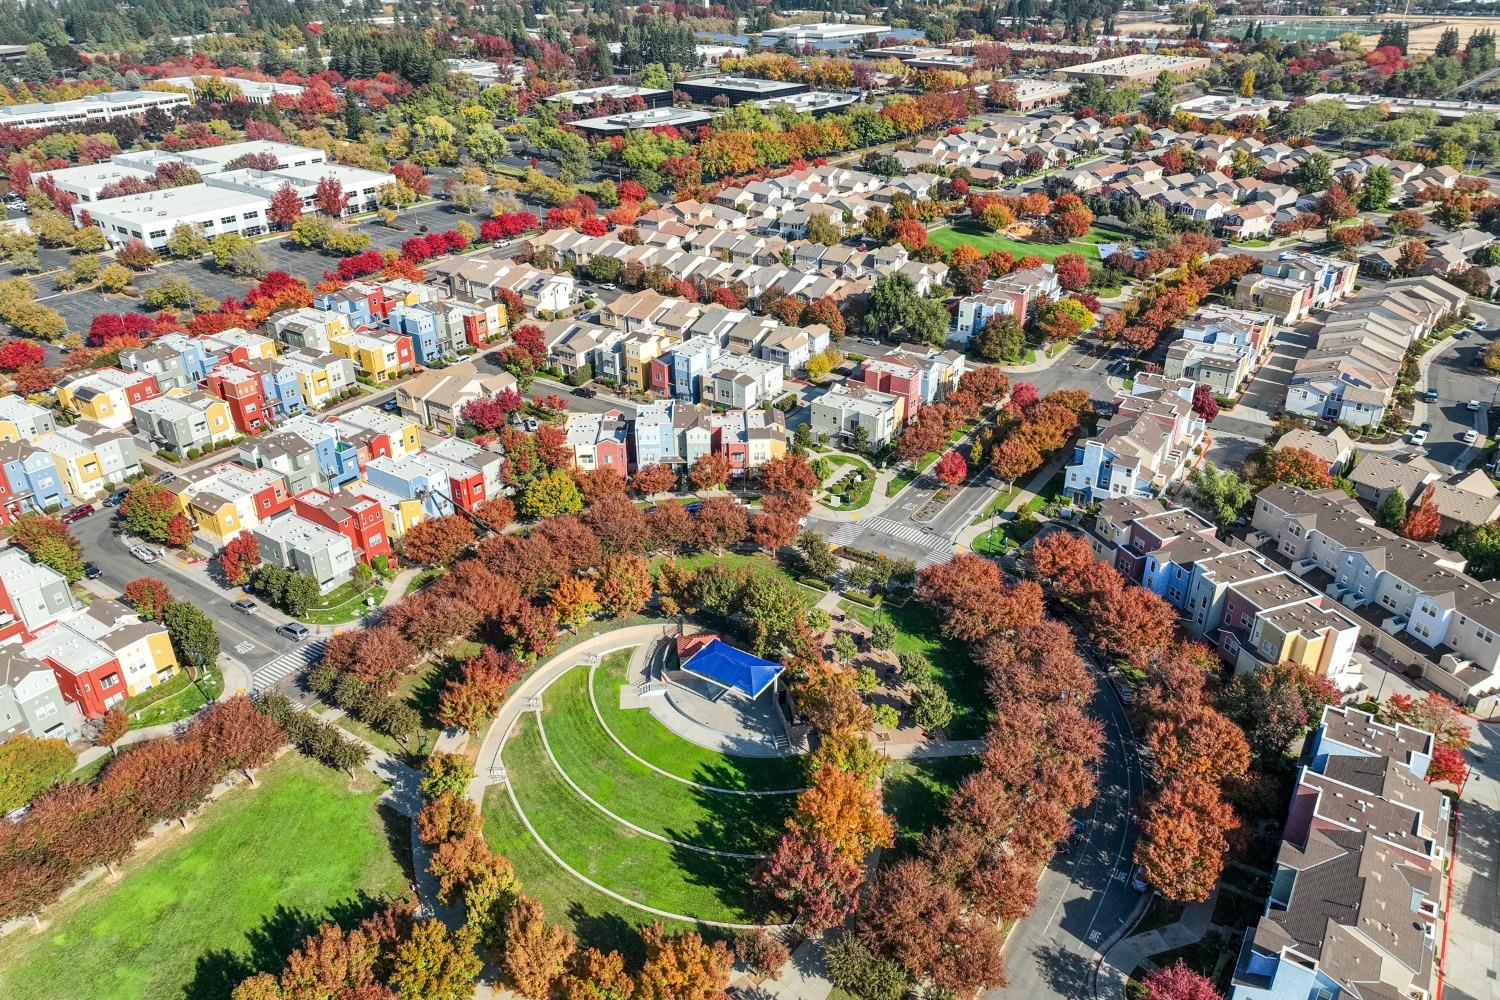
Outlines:
[[657,721],[646,709],[620,708],[630,651],[604,658],[594,672],[594,700],[604,726],[638,757],[680,778],[716,789],[788,792],[807,786],[801,757],[738,757],[690,744]]

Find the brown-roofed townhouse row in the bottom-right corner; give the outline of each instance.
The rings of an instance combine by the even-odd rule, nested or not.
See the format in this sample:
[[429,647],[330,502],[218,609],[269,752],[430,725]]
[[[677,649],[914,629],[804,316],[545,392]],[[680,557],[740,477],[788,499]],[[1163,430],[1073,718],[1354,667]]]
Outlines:
[[1454,819],[1425,781],[1432,750],[1430,732],[1323,709],[1230,1000],[1432,996]]

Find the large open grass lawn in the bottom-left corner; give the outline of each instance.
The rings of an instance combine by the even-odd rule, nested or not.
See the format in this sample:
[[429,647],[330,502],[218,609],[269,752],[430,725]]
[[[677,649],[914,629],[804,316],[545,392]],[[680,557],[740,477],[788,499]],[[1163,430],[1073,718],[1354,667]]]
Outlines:
[[[54,906],[40,934],[0,939],[8,1000],[208,1000],[280,967],[326,919],[354,921],[402,894],[375,780],[300,754],[266,768],[261,787],[208,805],[190,831]],[[402,847],[404,849],[404,847]]]

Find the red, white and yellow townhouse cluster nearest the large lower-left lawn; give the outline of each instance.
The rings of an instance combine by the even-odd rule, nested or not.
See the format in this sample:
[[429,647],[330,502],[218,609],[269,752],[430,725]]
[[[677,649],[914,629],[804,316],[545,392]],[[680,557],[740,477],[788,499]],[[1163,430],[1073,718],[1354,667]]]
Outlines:
[[74,739],[178,670],[166,630],[118,601],[80,604],[56,570],[0,549],[0,741]]

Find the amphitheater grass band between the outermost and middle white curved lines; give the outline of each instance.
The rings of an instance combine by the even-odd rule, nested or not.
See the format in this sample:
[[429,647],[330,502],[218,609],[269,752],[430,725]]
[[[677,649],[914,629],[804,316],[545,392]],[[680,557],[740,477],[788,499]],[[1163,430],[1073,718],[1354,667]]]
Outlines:
[[615,823],[562,780],[532,718],[518,726],[504,760],[537,835],[574,871],[627,900],[693,919],[753,924],[765,918],[750,885],[754,861],[663,844]]

